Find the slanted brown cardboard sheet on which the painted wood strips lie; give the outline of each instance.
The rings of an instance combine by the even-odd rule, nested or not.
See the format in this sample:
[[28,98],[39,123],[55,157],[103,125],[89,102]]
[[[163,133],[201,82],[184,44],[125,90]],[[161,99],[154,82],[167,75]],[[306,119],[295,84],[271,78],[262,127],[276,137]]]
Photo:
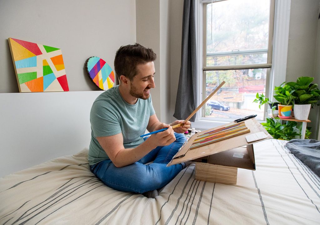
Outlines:
[[[267,139],[272,138],[271,135],[266,131],[266,129],[255,118],[245,120],[244,123],[250,129],[249,133],[245,133],[245,134],[241,134],[239,136],[224,139],[224,140],[212,143],[210,145],[205,145],[205,146],[197,147],[194,149],[189,149],[189,147],[192,145],[192,142],[194,141],[194,139],[196,139],[196,137],[198,135],[201,135],[201,134],[206,133],[208,131],[219,129],[219,128],[224,127],[226,125],[235,124],[235,122],[231,122],[229,124],[225,124],[225,125],[222,125],[222,126],[219,126],[216,128],[212,128],[212,129],[209,129],[206,131],[202,131],[202,132],[199,132],[199,133],[193,135],[181,147],[180,151],[173,157],[173,159],[168,163],[167,166],[171,166],[171,165],[178,164],[178,163],[185,162],[185,161],[192,161],[192,160],[195,160],[198,158],[202,158],[204,156],[217,154],[217,153],[224,152],[224,151],[227,151],[230,149],[238,148],[241,146],[247,146],[252,143],[256,143],[256,142],[259,142],[262,140],[267,140]],[[267,138],[253,141],[250,143],[247,142],[247,140],[245,139],[245,136],[253,134],[253,133],[257,133],[260,131],[264,132],[267,135]],[[251,158],[252,158],[252,160],[254,160],[253,151],[250,151],[250,153],[248,152],[248,154],[251,154],[251,152],[252,152]],[[229,154],[229,153],[226,153],[226,154]],[[223,157],[221,157],[221,158],[223,158]]]

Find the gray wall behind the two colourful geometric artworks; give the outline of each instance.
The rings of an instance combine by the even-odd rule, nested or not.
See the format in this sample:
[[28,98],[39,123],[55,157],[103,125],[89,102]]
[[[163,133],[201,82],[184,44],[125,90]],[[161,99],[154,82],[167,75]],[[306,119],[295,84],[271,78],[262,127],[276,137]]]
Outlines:
[[8,38],[62,50],[70,91],[99,90],[84,72],[91,56],[112,69],[116,50],[136,42],[135,0],[1,0],[0,93],[19,92]]

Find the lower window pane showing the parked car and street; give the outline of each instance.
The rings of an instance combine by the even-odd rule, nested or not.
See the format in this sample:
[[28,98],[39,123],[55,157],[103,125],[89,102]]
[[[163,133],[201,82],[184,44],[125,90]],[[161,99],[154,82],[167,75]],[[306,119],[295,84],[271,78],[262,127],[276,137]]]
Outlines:
[[224,80],[226,83],[206,103],[205,117],[232,118],[257,114],[263,120],[264,105],[252,101],[257,92],[265,94],[267,69],[205,71],[208,97]]

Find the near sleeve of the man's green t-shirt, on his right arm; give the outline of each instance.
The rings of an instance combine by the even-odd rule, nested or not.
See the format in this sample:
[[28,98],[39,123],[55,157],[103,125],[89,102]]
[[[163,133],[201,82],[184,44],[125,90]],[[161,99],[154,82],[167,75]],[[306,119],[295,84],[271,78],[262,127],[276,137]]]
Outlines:
[[121,133],[120,117],[108,101],[93,102],[90,123],[95,137],[112,136]]

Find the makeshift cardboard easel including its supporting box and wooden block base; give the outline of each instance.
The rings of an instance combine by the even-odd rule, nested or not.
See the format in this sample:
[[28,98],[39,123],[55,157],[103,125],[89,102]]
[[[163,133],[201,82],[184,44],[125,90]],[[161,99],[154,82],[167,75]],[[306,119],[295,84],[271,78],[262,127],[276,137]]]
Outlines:
[[[250,132],[190,149],[190,146],[198,135],[236,123],[231,122],[193,135],[181,147],[180,151],[172,158],[167,166],[185,161],[194,161],[196,163],[197,180],[222,184],[236,184],[237,168],[255,170],[252,144],[272,138],[255,118],[245,120],[244,122],[246,127],[250,129]],[[257,136],[256,134],[261,132],[264,133],[265,138],[252,139],[253,141],[248,139],[250,142],[247,141],[246,137],[248,138],[249,135],[251,137]]]

